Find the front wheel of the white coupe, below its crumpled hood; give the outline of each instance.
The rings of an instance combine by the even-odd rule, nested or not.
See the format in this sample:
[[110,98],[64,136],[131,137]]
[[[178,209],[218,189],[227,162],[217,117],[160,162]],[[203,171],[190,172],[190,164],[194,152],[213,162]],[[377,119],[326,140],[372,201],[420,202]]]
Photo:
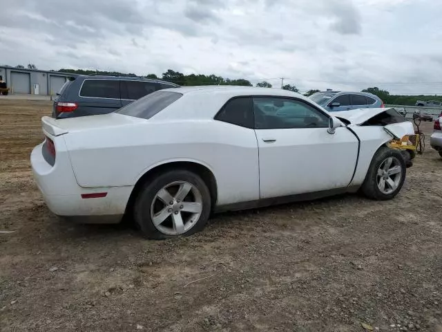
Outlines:
[[[390,160],[390,158],[392,160],[392,163],[390,166],[388,166],[387,160]],[[382,169],[381,166],[383,167]],[[387,170],[391,172],[396,172],[397,170],[399,170],[400,173],[396,172],[389,175],[390,173],[387,172]],[[378,175],[379,172],[384,173],[381,176]],[[381,147],[381,149],[378,149],[378,151],[376,151],[376,154],[374,154],[372,163],[370,164],[367,172],[367,176],[365,176],[365,181],[361,187],[361,191],[369,199],[374,199],[377,201],[386,201],[387,199],[393,199],[394,196],[396,196],[398,192],[401,191],[403,182],[405,181],[405,173],[405,160],[401,152],[396,149]],[[386,176],[387,178],[385,178]],[[384,179],[384,190],[381,190],[382,178]],[[393,186],[390,185],[390,183],[392,182],[394,183]]]

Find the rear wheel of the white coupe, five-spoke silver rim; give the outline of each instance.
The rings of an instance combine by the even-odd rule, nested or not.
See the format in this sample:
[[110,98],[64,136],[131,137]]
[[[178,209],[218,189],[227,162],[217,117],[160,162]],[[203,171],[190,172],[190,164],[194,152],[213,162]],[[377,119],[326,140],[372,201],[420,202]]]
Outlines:
[[137,195],[133,209],[135,223],[148,239],[189,236],[206,225],[211,195],[200,176],[176,169],[148,181]]

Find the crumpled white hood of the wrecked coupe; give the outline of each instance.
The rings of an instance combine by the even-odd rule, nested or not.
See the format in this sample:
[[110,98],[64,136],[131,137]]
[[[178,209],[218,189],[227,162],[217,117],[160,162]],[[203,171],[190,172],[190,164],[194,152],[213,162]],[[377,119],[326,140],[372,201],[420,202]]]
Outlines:
[[[339,111],[333,112],[333,116],[338,118],[344,118],[350,122],[349,125],[363,124],[367,120],[377,116],[378,114],[387,111],[388,109],[354,109],[352,111]],[[412,122],[404,119],[404,122],[386,124],[384,126],[385,131],[390,133],[394,138],[400,140],[405,135],[413,135],[414,127]]]

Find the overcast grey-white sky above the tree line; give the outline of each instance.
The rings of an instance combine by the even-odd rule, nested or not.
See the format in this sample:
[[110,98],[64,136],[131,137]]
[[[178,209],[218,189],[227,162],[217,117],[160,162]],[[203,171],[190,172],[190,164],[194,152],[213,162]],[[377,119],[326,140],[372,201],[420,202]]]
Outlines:
[[7,2],[0,64],[442,94],[441,1]]

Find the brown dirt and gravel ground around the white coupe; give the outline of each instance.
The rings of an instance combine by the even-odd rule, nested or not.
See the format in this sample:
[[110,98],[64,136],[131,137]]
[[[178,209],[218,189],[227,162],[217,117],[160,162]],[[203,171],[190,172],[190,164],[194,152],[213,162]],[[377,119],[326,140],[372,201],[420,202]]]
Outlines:
[[146,241],[48,211],[29,154],[49,113],[0,98],[0,230],[15,231],[0,234],[0,331],[442,331],[442,158],[429,145],[393,201],[220,214],[192,237]]

